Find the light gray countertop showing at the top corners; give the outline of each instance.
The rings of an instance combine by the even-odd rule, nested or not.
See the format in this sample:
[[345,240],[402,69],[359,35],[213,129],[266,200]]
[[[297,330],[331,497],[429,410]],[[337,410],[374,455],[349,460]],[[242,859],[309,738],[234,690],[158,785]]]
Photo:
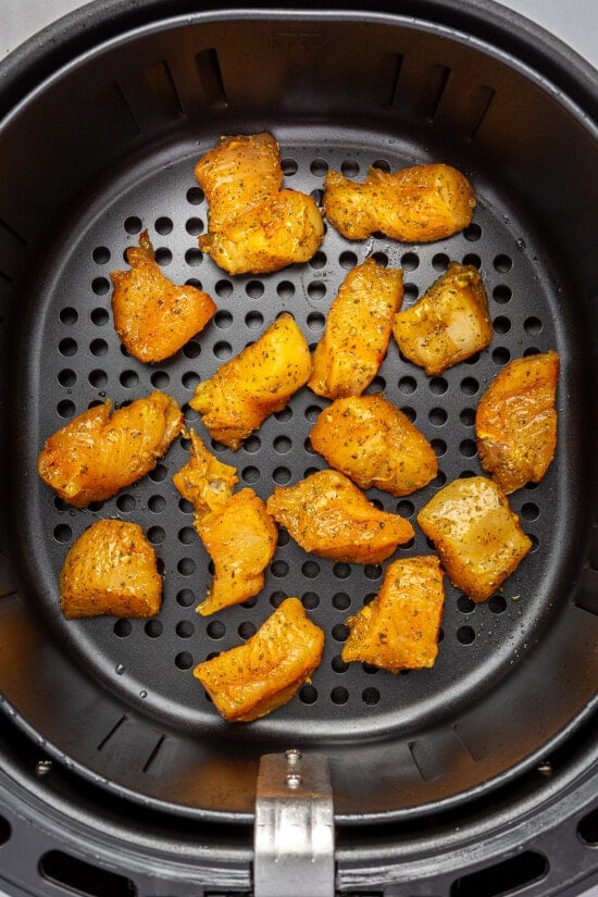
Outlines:
[[[84,5],[80,0],[0,0],[0,60],[41,28]],[[598,0],[502,0],[501,5],[541,25],[598,67]],[[8,895],[0,892],[0,897]],[[598,897],[598,887],[580,897]]]

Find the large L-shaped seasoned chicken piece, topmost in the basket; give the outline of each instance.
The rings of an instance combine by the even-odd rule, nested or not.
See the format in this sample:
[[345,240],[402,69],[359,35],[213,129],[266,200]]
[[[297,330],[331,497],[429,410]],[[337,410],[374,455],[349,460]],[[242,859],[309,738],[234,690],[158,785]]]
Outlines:
[[223,137],[199,160],[195,175],[210,207],[200,249],[229,274],[307,262],[322,242],[315,200],[281,189],[281,153],[271,134]]

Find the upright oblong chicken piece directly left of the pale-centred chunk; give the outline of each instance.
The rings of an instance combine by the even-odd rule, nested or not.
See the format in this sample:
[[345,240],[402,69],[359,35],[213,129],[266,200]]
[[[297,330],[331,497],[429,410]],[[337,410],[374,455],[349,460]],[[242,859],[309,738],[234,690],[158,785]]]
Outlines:
[[386,356],[402,302],[402,271],[367,259],[349,272],[332,302],[308,381],[319,396],[360,396]]

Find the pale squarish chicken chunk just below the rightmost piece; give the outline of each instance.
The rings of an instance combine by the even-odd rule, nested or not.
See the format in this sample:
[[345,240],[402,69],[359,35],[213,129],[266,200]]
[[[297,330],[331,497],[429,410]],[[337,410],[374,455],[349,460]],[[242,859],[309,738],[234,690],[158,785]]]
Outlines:
[[418,514],[451,583],[485,601],[532,548],[499,486],[485,476],[454,479]]

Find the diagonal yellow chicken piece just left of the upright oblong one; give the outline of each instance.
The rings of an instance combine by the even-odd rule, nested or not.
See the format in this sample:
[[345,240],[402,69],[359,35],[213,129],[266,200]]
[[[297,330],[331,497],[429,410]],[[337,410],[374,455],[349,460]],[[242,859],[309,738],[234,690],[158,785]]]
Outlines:
[[189,404],[202,415],[213,439],[238,449],[304,386],[310,371],[306,337],[285,312],[256,342],[199,383]]

